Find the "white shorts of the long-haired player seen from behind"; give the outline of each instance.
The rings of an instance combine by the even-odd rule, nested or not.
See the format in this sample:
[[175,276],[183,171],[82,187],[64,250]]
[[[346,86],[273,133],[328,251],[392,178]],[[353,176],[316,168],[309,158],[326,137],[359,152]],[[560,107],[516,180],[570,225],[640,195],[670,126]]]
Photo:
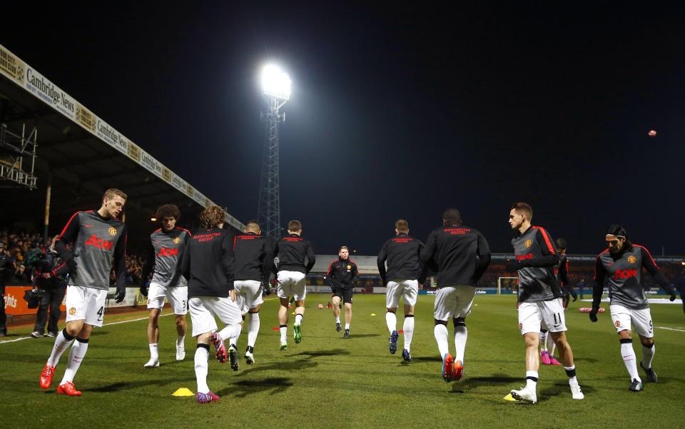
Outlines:
[[193,324],[193,337],[203,333],[215,332],[217,329],[214,316],[226,325],[240,323],[243,316],[240,314],[238,304],[229,298],[217,296],[196,296],[188,300],[191,323]]

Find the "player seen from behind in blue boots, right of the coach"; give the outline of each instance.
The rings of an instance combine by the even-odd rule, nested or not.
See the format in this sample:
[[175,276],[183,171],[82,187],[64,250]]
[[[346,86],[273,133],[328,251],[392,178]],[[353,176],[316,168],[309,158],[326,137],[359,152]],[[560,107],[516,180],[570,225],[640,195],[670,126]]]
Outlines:
[[[405,304],[405,322],[402,330],[405,334],[405,347],[402,358],[405,362],[412,361],[412,338],[414,337],[414,306],[419,293],[419,283],[425,281],[425,271],[422,271],[421,250],[423,243],[409,235],[409,223],[404,219],[395,222],[395,237],[383,243],[376,260],[385,293],[385,323],[390,331],[390,354],[397,351],[397,306],[400,298]],[[387,271],[385,262],[387,261]],[[427,266],[427,265],[425,265]],[[390,279],[390,280],[388,280]]]

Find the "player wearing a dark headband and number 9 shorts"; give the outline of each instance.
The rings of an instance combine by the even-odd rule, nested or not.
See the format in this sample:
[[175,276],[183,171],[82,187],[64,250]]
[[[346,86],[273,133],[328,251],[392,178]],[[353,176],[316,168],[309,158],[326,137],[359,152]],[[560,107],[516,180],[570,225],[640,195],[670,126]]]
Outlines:
[[666,280],[656,266],[649,251],[628,239],[626,230],[620,225],[607,228],[604,238],[608,248],[597,256],[594,264],[594,284],[592,290],[592,310],[590,320],[597,322],[599,302],[602,301],[604,280],[609,280],[609,311],[621,343],[621,356],[630,375],[629,390],[642,390],[642,380],[637,373],[631,323],[642,343],[642,360],[640,367],[646,379],[656,383],[658,378],[652,368],[656,346],[654,345],[654,325],[651,322],[649,302],[642,286],[642,268],[649,272],[654,281],[669,294],[671,301],[676,299],[674,287]]

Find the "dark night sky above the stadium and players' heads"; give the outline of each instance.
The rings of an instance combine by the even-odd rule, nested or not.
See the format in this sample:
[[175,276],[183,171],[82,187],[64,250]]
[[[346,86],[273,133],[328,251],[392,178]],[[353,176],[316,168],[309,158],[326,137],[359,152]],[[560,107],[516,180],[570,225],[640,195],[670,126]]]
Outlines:
[[611,223],[685,253],[683,10],[197,3],[4,6],[0,43],[242,221],[278,61],[281,216],[317,253],[376,253],[400,217],[425,239],[450,206],[509,252],[514,201],[572,253]]

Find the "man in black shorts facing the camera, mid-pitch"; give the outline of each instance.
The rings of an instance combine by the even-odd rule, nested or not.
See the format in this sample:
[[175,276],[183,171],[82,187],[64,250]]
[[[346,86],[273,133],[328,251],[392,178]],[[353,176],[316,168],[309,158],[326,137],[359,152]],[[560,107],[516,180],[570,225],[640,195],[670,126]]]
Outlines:
[[359,278],[359,269],[355,261],[350,259],[350,250],[347,246],[338,249],[338,259],[334,259],[326,273],[330,281],[330,289],[333,292],[331,303],[333,304],[333,317],[335,317],[335,330],[340,332],[340,299],[345,304],[345,333],[342,338],[350,338],[350,323],[352,322],[352,292],[355,282]]

